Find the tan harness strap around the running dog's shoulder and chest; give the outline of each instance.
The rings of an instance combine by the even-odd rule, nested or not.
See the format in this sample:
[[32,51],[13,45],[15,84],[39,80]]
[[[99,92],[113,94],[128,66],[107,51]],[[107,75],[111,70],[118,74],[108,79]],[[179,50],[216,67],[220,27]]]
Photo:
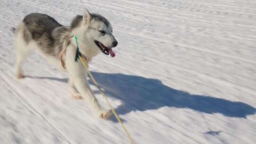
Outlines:
[[[62,50],[61,50],[60,53],[58,54],[58,58],[60,59],[61,65],[62,65],[62,67],[63,67],[64,69],[66,69],[66,65],[65,65],[65,62],[64,62],[64,60],[63,60],[63,54],[66,52],[67,46],[68,46],[68,44],[69,44],[69,42],[70,42],[69,39],[72,38],[72,37],[74,37],[74,36],[73,36],[73,35],[72,35],[72,36],[67,35],[67,36],[64,37],[64,42],[63,42]],[[80,54],[81,54],[81,53],[80,53]],[[85,55],[81,54],[81,57],[82,57],[85,61],[87,61]]]

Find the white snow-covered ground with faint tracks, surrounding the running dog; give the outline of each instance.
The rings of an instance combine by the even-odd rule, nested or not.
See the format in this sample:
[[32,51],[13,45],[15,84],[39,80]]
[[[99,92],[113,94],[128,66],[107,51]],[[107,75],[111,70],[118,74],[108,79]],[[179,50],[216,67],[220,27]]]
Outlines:
[[83,8],[112,23],[117,55],[90,70],[135,144],[256,144],[256,0],[0,0],[0,144],[129,144],[40,53],[14,77],[11,27],[31,12],[69,25]]

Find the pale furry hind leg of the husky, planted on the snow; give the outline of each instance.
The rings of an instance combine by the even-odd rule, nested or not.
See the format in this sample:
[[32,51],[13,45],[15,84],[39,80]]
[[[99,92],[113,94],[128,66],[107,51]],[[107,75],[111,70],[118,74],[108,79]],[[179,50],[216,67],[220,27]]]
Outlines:
[[35,43],[33,44],[31,39],[29,39],[29,33],[26,31],[23,23],[21,23],[15,30],[14,46],[16,52],[15,76],[18,79],[21,79],[24,78],[21,68],[22,62],[35,48]]

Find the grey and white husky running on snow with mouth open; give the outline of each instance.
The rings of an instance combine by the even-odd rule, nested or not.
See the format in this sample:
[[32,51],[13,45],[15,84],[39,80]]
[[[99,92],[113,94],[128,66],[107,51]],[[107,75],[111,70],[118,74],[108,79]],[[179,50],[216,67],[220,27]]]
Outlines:
[[[100,52],[115,54],[112,47],[118,45],[112,34],[110,22],[99,14],[89,13],[83,10],[83,15],[77,15],[69,27],[59,24],[54,18],[40,13],[27,15],[15,29],[16,50],[16,77],[23,78],[21,64],[34,50],[39,49],[44,57],[59,70],[65,70],[69,74],[69,92],[74,98],[84,98],[98,117],[106,118],[110,112],[101,108],[95,98],[86,79],[85,71],[80,61],[74,61],[76,55],[76,42],[74,38],[66,38],[74,35],[78,38],[78,45],[82,56],[88,65],[93,56]],[[66,51],[63,54],[65,69],[62,66],[58,54],[62,51],[64,39],[68,40]]]

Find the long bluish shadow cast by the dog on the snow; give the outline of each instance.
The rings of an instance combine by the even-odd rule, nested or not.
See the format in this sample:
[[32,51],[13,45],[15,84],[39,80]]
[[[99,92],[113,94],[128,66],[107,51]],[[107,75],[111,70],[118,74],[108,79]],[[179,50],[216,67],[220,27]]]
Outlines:
[[[220,113],[226,117],[246,118],[247,115],[256,113],[256,108],[246,103],[205,95],[192,95],[170,88],[156,79],[121,73],[91,73],[109,97],[122,101],[122,104],[115,109],[119,115],[162,107],[190,108],[207,114]],[[67,82],[67,79],[35,78]],[[90,83],[92,83],[91,80]],[[113,118],[110,119],[115,121]]]

